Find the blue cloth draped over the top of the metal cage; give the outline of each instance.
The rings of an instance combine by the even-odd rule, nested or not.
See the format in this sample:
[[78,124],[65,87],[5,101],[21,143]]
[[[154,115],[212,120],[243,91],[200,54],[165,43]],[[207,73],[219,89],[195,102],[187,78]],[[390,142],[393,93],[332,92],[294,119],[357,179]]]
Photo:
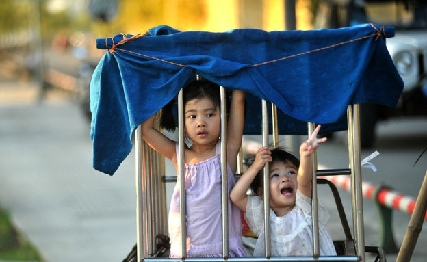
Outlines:
[[93,166],[114,174],[131,151],[133,130],[196,75],[276,104],[294,129],[285,133],[300,133],[293,118],[334,130],[348,105],[394,107],[403,83],[385,46],[385,38],[393,35],[393,27],[370,24],[224,33],[159,26],[131,40],[123,35],[98,39],[96,46],[109,51],[90,85]]

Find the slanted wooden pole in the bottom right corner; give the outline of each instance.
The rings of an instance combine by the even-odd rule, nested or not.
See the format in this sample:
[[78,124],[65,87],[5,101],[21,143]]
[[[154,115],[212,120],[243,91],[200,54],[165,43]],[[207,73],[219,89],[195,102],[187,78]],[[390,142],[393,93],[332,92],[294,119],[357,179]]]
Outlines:
[[396,262],[410,261],[415,245],[417,244],[419,233],[422,230],[424,216],[427,211],[427,172],[424,176],[424,181],[419,189],[417,202],[411,220],[409,220],[408,229],[403,239],[402,246],[400,247],[398,258]]

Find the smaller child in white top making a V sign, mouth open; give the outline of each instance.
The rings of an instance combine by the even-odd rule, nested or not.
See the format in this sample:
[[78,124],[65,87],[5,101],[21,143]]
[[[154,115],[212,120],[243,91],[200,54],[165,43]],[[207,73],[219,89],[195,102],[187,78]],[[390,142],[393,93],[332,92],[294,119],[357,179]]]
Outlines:
[[[263,166],[270,163],[270,227],[271,253],[273,257],[313,255],[313,233],[311,226],[311,154],[318,148],[316,139],[320,125],[313,135],[300,146],[300,161],[285,150],[259,148],[255,161],[237,181],[231,191],[231,200],[245,212],[246,222],[258,235],[254,256],[263,257],[264,211],[263,211]],[[256,177],[259,176],[259,177]],[[257,196],[247,196],[251,187]],[[336,255],[333,241],[326,231],[329,218],[323,205],[319,211],[320,255]]]

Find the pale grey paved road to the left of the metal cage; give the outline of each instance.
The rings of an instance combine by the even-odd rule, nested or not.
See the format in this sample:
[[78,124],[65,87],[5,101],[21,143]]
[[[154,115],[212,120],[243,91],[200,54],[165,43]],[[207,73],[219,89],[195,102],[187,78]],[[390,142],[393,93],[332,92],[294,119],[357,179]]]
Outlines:
[[135,175],[129,157],[114,176],[92,168],[90,128],[77,105],[31,99],[0,106],[0,205],[47,262],[121,261],[136,241]]

